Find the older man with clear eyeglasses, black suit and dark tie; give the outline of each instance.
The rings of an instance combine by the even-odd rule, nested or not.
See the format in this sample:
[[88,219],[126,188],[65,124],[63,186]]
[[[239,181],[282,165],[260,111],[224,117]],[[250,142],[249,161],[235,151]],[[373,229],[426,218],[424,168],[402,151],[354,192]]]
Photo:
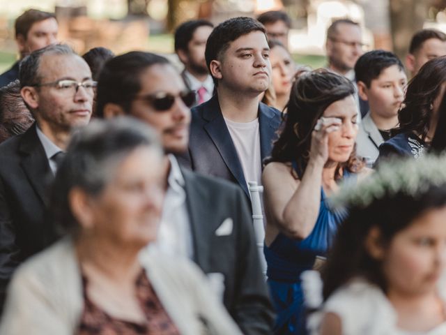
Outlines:
[[70,47],[49,45],[22,61],[20,86],[36,122],[0,145],[1,305],[17,265],[56,236],[45,220],[47,181],[72,128],[89,123],[95,82],[89,66]]

